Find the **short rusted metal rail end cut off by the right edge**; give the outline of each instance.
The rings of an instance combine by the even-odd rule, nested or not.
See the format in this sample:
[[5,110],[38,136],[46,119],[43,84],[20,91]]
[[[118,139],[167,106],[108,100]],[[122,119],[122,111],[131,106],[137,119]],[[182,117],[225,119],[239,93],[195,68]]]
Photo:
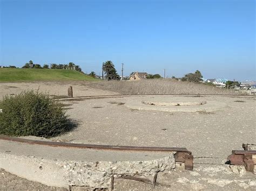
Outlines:
[[253,172],[254,165],[256,165],[256,151],[253,150],[233,150],[232,154],[227,157],[227,160],[230,161],[231,165],[244,165],[246,171]]

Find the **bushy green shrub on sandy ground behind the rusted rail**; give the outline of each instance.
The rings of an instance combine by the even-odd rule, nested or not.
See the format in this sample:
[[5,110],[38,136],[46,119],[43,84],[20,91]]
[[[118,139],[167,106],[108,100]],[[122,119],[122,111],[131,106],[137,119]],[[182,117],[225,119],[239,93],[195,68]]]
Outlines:
[[0,102],[0,134],[8,136],[54,137],[75,128],[63,105],[49,95],[23,91]]

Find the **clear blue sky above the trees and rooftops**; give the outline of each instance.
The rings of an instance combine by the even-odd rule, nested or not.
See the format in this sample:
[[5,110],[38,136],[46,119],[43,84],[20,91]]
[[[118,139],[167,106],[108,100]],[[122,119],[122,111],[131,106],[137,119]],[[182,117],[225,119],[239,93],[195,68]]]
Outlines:
[[256,80],[255,1],[0,0],[0,65],[113,61],[132,71]]

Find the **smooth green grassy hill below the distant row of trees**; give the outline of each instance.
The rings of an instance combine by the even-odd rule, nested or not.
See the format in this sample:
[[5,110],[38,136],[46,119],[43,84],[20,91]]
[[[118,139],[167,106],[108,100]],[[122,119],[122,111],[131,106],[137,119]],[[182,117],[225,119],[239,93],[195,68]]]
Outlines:
[[0,68],[0,82],[8,81],[97,80],[91,76],[66,69]]

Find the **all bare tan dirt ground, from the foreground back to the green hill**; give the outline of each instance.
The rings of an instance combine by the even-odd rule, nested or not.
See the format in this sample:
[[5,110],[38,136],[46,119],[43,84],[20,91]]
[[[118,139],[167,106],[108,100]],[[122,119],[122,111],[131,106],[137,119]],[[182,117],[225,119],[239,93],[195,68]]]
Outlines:
[[[69,86],[73,87],[74,96],[117,94],[90,88],[86,83],[0,83],[0,97],[38,87],[39,91],[65,97]],[[255,144],[255,97],[202,97],[227,104],[225,109],[214,112],[146,111],[125,106],[126,102],[141,98],[63,101],[68,115],[79,125],[74,131],[52,140],[107,145],[186,147],[194,155],[194,171],[161,173],[156,190],[256,189],[255,175],[234,174],[228,165],[225,165],[232,150],[241,150],[242,143]],[[19,178],[3,169],[0,169],[0,185],[0,190],[65,190]],[[151,190],[152,186],[143,182],[117,179],[115,189]]]

